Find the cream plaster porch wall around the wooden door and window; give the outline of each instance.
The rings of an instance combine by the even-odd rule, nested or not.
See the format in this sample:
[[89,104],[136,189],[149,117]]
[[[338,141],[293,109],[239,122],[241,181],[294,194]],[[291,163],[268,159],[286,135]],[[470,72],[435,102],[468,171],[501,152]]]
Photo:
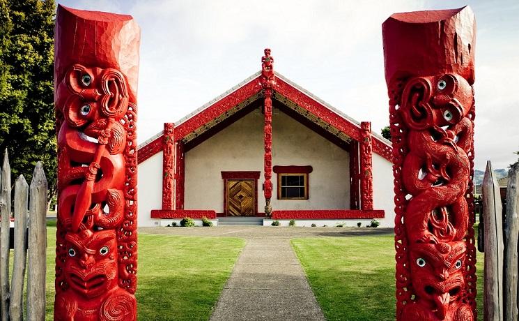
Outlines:
[[[251,112],[185,154],[185,209],[224,211],[221,171],[260,171],[258,212],[263,197],[263,114]],[[349,209],[349,155],[335,144],[288,117],[272,117],[272,166],[311,165],[309,200],[277,200],[272,173],[272,208]]]

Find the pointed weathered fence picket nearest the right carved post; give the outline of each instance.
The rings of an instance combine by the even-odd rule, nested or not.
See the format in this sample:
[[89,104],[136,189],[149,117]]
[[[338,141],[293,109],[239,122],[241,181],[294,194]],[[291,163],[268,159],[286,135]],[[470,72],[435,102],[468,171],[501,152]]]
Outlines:
[[484,320],[503,320],[503,232],[499,185],[490,161],[483,177],[483,221],[485,222]]

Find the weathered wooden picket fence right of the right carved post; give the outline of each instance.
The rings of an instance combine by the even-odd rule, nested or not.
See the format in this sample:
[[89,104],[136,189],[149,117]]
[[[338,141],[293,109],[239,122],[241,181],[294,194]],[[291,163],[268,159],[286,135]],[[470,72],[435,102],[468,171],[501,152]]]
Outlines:
[[483,178],[484,320],[518,321],[519,163],[511,165],[503,215],[499,185],[487,163]]

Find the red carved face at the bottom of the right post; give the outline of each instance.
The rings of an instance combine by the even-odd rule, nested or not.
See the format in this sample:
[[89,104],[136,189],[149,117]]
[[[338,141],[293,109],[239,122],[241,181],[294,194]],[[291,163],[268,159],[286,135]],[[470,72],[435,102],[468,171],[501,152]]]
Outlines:
[[465,288],[463,271],[467,269],[463,241],[441,244],[417,243],[410,246],[412,286],[417,304],[426,304],[439,320],[451,320],[460,294]]

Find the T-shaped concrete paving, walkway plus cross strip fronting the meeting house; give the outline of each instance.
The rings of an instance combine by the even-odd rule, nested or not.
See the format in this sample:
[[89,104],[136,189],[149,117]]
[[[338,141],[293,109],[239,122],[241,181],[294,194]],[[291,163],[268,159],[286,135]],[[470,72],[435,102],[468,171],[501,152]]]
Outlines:
[[220,226],[141,227],[139,232],[246,239],[211,321],[325,320],[290,239],[392,234],[393,229]]

